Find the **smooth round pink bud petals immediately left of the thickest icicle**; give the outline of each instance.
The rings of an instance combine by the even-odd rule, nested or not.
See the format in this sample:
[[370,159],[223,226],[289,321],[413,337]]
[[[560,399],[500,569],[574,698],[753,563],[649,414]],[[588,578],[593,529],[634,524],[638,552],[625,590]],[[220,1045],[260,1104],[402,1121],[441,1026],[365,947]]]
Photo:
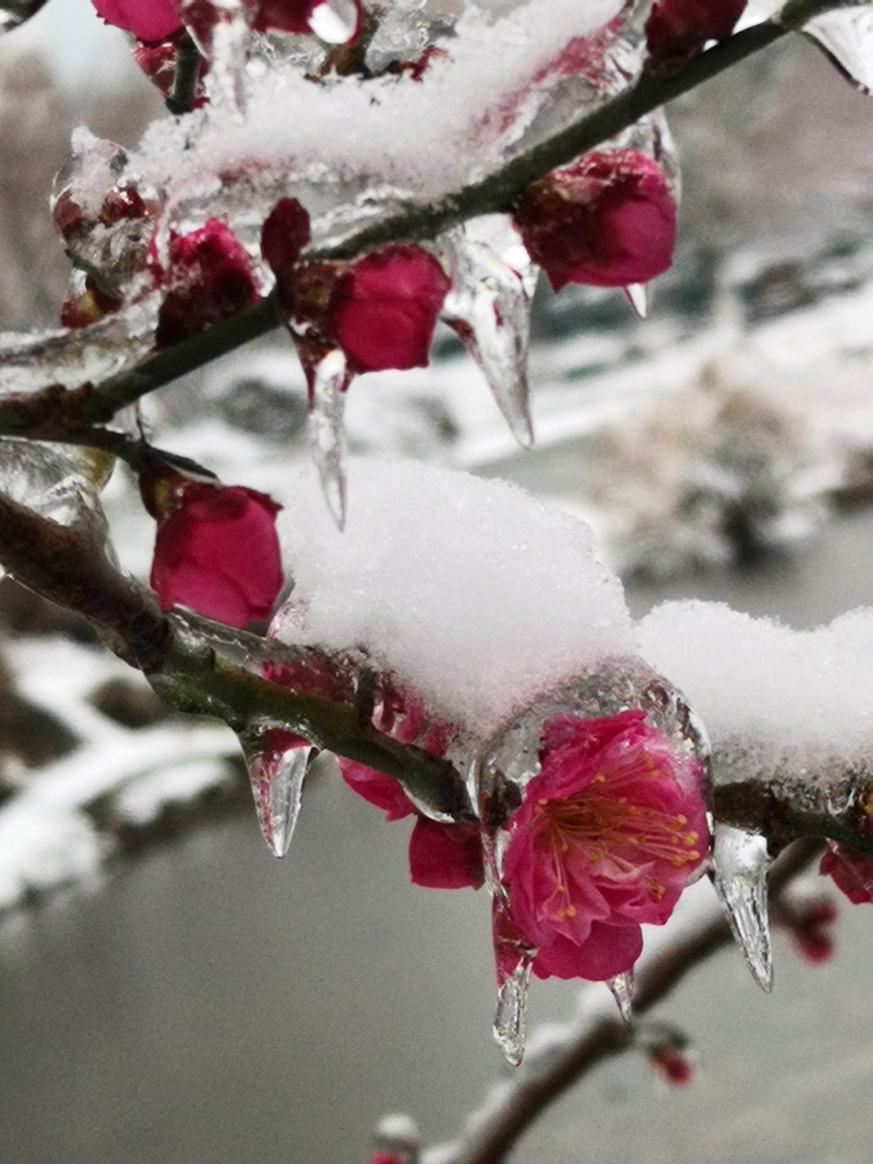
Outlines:
[[343,268],[328,327],[350,369],[424,368],[448,289],[445,271],[420,247],[383,247]]

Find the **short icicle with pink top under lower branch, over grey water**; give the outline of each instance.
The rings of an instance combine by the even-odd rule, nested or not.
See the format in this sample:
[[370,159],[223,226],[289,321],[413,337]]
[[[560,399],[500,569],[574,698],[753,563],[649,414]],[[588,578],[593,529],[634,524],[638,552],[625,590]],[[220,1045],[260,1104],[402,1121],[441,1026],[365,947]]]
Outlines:
[[313,748],[284,728],[262,729],[242,743],[261,832],[274,853],[284,857]]

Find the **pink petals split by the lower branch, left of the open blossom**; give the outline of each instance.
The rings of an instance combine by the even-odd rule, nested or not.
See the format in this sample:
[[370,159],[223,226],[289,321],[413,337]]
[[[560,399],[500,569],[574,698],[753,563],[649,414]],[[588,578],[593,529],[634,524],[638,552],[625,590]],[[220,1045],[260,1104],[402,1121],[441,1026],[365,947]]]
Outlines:
[[[419,700],[390,684],[374,715],[374,726],[404,744],[416,743],[432,755],[445,755],[449,732],[430,723]],[[359,796],[385,812],[388,821],[416,816],[410,837],[413,885],[427,889],[466,889],[484,881],[482,840],[475,825],[432,821],[419,812],[391,776],[354,760],[340,759],[342,779]]]

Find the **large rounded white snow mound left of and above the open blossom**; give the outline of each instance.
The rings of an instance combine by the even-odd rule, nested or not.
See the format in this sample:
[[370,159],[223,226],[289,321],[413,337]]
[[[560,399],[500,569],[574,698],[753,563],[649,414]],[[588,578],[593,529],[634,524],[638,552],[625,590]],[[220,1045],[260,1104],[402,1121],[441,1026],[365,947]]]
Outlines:
[[365,647],[438,716],[489,733],[611,655],[634,652],[618,579],[587,525],[516,485],[354,461],[345,532],[315,474],[279,516],[291,601],[274,633]]

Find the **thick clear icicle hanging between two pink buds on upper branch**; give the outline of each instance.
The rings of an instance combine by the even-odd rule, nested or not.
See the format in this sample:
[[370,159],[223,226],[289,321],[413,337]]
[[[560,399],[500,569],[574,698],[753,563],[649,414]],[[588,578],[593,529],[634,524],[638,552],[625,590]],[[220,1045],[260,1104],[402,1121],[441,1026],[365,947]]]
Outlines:
[[474,219],[446,243],[453,285],[443,318],[484,372],[512,435],[530,448],[527,346],[538,270],[501,214]]

